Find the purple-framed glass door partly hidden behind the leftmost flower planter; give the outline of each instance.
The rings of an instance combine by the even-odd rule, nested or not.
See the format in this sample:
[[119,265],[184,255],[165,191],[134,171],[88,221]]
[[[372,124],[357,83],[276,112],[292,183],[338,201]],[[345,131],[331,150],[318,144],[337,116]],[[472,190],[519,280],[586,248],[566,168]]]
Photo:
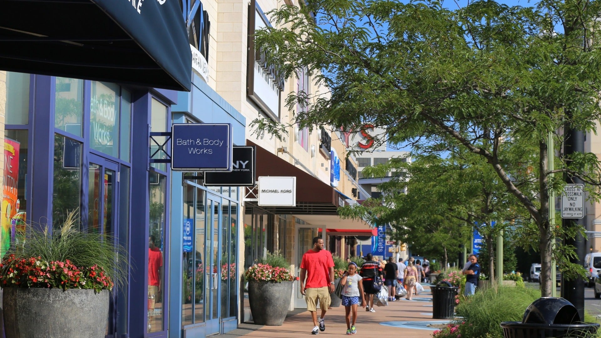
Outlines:
[[[103,233],[118,241],[119,165],[90,154],[88,163],[88,232]],[[114,243],[116,246],[117,243]],[[125,300],[125,292],[115,287],[111,292],[107,337],[116,337],[117,327],[123,327],[117,309]]]

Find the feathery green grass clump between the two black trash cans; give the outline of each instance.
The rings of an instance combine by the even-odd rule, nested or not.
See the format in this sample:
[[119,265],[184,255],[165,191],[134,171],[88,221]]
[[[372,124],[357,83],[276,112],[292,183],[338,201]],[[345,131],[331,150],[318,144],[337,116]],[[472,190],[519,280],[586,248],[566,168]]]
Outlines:
[[[498,286],[478,290],[456,308],[462,317],[458,329],[462,337],[502,338],[501,322],[522,321],[526,307],[540,298],[540,290],[525,287]],[[454,324],[460,324],[455,322]]]

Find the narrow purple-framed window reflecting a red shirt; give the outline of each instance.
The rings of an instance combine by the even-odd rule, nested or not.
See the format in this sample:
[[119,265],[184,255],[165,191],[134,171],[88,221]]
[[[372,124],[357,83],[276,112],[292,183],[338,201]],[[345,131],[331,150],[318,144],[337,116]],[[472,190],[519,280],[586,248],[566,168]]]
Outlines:
[[167,177],[155,173],[149,182],[148,224],[148,333],[163,331],[165,324],[165,223]]

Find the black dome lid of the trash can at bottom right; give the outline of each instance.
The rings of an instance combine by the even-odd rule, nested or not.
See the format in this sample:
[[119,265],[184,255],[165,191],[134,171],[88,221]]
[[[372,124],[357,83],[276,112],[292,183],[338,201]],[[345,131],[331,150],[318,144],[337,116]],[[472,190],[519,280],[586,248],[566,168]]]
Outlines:
[[526,308],[523,324],[573,324],[580,322],[578,310],[561,297],[541,297]]

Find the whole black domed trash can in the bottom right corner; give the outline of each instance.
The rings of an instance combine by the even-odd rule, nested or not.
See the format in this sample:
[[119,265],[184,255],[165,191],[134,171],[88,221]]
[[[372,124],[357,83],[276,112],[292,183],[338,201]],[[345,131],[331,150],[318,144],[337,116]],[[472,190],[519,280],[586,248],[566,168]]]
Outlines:
[[594,337],[597,323],[582,323],[578,310],[558,297],[538,298],[528,306],[522,322],[502,322],[505,338],[579,338]]

